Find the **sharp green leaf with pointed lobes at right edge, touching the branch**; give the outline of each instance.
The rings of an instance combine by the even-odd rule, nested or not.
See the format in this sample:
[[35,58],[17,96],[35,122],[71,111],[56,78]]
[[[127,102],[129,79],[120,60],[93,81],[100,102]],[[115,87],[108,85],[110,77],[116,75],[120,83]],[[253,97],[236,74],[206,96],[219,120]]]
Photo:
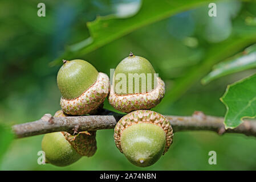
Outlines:
[[256,117],[256,74],[228,85],[221,101],[226,105],[224,125],[233,129],[243,118]]

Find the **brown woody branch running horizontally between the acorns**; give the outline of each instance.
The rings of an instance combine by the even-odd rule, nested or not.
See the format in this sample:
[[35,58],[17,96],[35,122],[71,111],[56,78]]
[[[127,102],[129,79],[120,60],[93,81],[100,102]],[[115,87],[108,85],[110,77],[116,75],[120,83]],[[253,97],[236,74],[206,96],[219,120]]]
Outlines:
[[[74,130],[103,130],[113,129],[123,114],[117,114],[109,110],[103,110],[100,115],[86,115],[73,117],[55,118],[45,114],[41,119],[34,122],[23,123],[13,126],[13,132],[17,138],[52,133],[56,131]],[[225,130],[224,118],[205,115],[201,111],[195,111],[192,116],[166,115],[173,127],[173,131],[208,130],[218,134],[241,133],[256,137],[256,121],[244,121],[235,129]]]

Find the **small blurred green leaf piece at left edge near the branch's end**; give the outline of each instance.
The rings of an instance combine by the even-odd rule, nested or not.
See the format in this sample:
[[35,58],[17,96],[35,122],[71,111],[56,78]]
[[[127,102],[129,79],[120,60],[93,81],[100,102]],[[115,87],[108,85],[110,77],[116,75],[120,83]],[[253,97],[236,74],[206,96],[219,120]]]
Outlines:
[[9,144],[13,140],[14,135],[11,132],[10,127],[6,127],[0,124],[0,164]]

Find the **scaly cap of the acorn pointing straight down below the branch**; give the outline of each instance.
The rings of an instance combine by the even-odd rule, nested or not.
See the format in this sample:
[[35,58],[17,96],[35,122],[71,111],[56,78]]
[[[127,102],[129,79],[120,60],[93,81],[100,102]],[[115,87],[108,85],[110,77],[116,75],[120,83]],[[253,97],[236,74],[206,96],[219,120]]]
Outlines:
[[151,110],[136,110],[127,115],[117,122],[114,131],[114,138],[117,148],[119,148],[120,152],[123,153],[121,148],[121,135],[125,129],[127,129],[131,125],[136,125],[137,123],[152,123],[154,125],[160,126],[162,130],[165,131],[166,143],[164,152],[168,151],[170,145],[172,144],[173,139],[173,130],[172,126],[170,126],[169,120],[159,113]]

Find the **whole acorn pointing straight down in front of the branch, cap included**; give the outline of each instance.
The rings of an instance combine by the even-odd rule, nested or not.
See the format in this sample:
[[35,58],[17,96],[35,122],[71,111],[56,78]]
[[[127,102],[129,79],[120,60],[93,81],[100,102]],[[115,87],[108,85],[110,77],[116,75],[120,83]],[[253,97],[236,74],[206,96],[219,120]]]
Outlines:
[[139,167],[155,164],[173,141],[169,120],[151,110],[136,110],[117,122],[115,143],[125,157]]

